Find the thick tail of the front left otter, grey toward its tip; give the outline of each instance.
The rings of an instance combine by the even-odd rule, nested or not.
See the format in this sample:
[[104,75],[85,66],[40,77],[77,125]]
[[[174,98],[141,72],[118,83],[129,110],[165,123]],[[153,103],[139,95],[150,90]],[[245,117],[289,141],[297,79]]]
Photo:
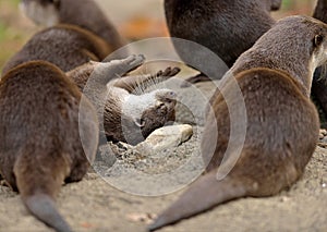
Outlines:
[[59,213],[53,197],[60,190],[64,179],[63,173],[52,172],[53,169],[49,167],[33,167],[31,166],[32,160],[24,159],[25,157],[20,157],[16,160],[14,174],[17,188],[27,210],[56,231],[71,232],[70,225]]

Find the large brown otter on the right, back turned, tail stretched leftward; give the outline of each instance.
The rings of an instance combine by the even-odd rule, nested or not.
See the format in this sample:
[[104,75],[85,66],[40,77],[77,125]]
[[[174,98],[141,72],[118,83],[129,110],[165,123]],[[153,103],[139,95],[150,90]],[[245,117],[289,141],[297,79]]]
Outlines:
[[[227,75],[222,88],[211,99],[213,111],[202,139],[207,173],[164,211],[149,230],[234,198],[270,196],[291,186],[302,175],[318,139],[318,115],[308,97],[313,72],[326,62],[327,26],[307,16],[277,22],[244,52],[231,73],[235,75],[246,111],[243,114],[238,111],[242,99],[235,98],[233,77]],[[229,96],[229,106],[223,96]],[[237,118],[231,119],[233,111]],[[244,113],[246,121],[241,124]],[[239,136],[229,137],[232,120],[237,130],[245,129],[242,144]],[[239,147],[241,150],[223,178],[219,169],[226,168],[232,157],[221,163],[229,139],[234,144],[230,155],[238,155],[233,152]]]

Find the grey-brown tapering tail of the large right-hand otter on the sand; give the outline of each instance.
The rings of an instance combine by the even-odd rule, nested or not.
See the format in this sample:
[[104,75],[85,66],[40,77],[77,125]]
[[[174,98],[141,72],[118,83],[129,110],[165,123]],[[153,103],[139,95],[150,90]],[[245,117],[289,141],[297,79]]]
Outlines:
[[166,209],[153,224],[149,231],[155,231],[165,225],[175,223],[214,206],[246,195],[246,188],[232,176],[221,181],[216,179],[216,171],[201,176],[191,187],[168,209]]

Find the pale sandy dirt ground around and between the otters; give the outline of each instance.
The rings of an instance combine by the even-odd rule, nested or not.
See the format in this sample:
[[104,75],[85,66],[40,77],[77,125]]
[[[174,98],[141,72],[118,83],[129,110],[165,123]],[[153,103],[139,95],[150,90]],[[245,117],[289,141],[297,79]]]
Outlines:
[[[121,1],[122,4],[117,3],[116,8],[109,7],[116,1],[98,1],[108,4],[113,22],[117,19],[114,23],[123,24],[130,19],[119,17],[119,14],[120,9],[125,9],[124,2],[132,1]],[[152,16],[164,16],[162,10],[158,9],[162,1],[142,2],[153,8]],[[142,14],[144,9],[140,5],[138,1],[130,9]],[[211,88],[210,84],[197,87],[206,91]],[[192,93],[184,90],[182,95],[184,100],[193,102],[195,109],[202,109],[202,101]],[[182,114],[180,119],[187,121]],[[92,169],[83,181],[61,188],[58,209],[78,232],[146,231],[150,219],[175,200],[186,190],[187,183],[201,174],[203,166],[196,152],[201,131],[201,125],[194,127],[195,134],[189,142],[146,159],[118,158],[110,168],[106,162],[96,162],[94,170],[97,172]],[[16,193],[0,186],[0,231],[52,230],[29,215]],[[160,231],[327,231],[327,149],[317,147],[305,173],[290,190],[272,197],[233,200]]]

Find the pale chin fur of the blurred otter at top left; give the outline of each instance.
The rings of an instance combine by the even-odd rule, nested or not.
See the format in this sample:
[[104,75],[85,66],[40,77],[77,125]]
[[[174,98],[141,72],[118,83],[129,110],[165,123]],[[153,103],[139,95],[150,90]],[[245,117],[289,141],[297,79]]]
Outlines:
[[60,22],[58,11],[53,5],[48,5],[44,9],[36,2],[29,2],[28,4],[21,2],[20,10],[38,25],[49,27]]

